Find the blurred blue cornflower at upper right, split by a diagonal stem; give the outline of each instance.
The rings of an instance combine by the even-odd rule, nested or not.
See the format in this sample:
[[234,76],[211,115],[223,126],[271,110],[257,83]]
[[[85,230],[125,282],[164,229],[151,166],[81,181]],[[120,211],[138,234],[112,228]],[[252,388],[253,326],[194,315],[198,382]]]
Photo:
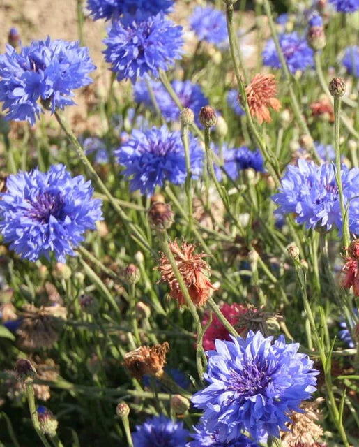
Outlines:
[[[307,44],[305,37],[300,37],[295,31],[288,34],[280,34],[280,47],[284,54],[284,59],[287,61],[287,66],[291,73],[296,73],[297,70],[305,70],[307,67],[312,67],[314,64],[313,50]],[[263,51],[263,64],[273,68],[280,68],[280,58],[273,39],[266,43]]]

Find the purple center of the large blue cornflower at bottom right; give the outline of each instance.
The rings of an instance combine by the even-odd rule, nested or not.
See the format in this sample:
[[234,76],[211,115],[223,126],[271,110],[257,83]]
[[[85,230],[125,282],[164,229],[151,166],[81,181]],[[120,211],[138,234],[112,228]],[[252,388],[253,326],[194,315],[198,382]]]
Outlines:
[[270,382],[267,365],[257,362],[246,362],[240,372],[231,369],[231,378],[229,389],[238,391],[243,397],[261,394]]

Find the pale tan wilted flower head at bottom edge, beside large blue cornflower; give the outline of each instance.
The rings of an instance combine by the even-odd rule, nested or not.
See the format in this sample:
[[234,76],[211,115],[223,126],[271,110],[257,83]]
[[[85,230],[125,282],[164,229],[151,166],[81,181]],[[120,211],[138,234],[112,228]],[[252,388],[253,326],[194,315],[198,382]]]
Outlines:
[[282,446],[312,446],[323,434],[323,429],[317,424],[321,418],[321,412],[318,407],[323,402],[323,397],[319,397],[313,402],[303,402],[300,410],[303,412],[293,411],[289,416],[291,422],[287,423],[289,431],[283,432]]

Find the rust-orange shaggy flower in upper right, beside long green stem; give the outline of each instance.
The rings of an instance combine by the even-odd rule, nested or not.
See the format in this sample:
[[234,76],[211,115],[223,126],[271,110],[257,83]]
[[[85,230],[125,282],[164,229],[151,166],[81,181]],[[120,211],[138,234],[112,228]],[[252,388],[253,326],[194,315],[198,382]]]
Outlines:
[[280,110],[281,103],[275,98],[277,94],[277,81],[274,75],[258,73],[252,79],[250,85],[245,87],[250,114],[257,117],[259,124],[263,121],[270,123],[272,121],[268,107],[276,112]]

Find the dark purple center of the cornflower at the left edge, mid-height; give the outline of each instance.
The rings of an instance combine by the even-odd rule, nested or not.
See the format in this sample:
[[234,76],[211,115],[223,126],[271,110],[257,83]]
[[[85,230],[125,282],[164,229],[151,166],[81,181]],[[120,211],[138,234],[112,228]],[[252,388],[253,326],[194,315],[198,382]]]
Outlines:
[[31,202],[29,217],[41,223],[49,223],[50,216],[61,219],[63,201],[60,193],[40,193],[36,200]]

